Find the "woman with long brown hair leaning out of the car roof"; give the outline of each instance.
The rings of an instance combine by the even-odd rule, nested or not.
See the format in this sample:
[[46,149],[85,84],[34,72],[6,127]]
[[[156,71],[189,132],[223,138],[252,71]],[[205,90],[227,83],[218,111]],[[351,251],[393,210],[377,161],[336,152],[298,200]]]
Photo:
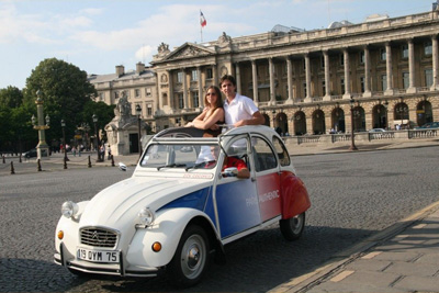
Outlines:
[[221,134],[221,128],[211,129],[212,126],[224,123],[223,99],[217,87],[211,86],[207,88],[204,104],[203,112],[185,126],[204,129],[204,137],[216,137]]

